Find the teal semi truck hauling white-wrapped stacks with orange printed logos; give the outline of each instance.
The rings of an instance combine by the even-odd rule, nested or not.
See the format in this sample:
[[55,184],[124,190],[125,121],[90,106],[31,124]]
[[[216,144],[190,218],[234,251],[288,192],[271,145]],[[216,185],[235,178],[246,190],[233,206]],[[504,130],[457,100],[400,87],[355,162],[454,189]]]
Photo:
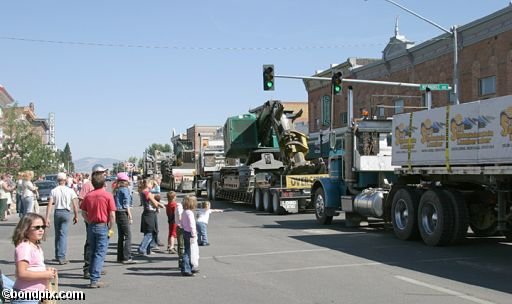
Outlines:
[[347,226],[383,219],[430,246],[462,241],[468,226],[511,239],[512,96],[348,121],[329,177],[311,188],[320,224],[344,212]]

